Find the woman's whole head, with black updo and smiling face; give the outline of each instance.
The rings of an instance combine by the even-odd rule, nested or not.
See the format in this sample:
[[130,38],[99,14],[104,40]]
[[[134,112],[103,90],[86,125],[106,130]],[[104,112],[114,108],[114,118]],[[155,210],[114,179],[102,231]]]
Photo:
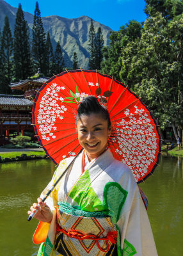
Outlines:
[[86,97],[77,111],[77,132],[80,145],[86,150],[88,160],[100,156],[111,135],[111,121],[107,109],[93,96]]

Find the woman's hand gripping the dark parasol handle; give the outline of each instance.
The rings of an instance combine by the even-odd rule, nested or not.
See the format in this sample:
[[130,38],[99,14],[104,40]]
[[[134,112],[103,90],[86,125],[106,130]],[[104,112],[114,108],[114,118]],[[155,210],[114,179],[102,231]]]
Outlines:
[[34,216],[37,220],[51,222],[53,214],[49,206],[47,206],[45,202],[42,202],[42,198],[40,197],[38,197],[38,204],[34,203],[30,208],[31,211],[28,211],[28,214],[30,215],[32,212],[38,210]]

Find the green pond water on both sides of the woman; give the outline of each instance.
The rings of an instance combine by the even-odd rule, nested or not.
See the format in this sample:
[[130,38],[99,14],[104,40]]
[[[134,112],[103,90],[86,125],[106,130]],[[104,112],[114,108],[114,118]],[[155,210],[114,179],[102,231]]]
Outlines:
[[[0,164],[0,256],[34,256],[37,220],[27,211],[54,173],[49,159]],[[183,255],[183,166],[181,157],[162,157],[154,176],[140,185],[159,256]]]

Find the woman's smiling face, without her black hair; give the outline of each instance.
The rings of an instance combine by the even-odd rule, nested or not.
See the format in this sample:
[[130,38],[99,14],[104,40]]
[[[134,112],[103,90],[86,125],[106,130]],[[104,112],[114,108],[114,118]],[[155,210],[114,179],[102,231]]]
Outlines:
[[106,149],[111,129],[107,127],[107,120],[100,114],[82,115],[77,121],[78,140],[86,150],[89,159],[100,156]]

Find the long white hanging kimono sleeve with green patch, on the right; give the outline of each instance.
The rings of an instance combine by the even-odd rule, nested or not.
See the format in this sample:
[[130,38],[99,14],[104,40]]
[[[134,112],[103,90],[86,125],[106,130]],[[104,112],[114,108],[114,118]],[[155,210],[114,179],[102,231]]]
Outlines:
[[130,209],[122,212],[117,225],[123,256],[157,256],[152,229],[138,186]]

